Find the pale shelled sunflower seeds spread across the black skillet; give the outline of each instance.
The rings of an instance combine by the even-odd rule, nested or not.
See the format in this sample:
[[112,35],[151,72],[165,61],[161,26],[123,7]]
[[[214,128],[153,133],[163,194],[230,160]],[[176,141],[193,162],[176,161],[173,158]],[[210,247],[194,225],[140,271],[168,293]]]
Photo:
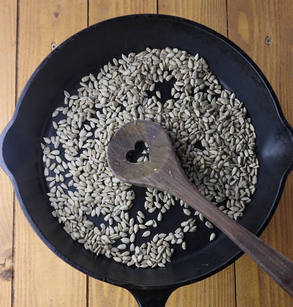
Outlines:
[[[156,83],[173,78],[172,99],[161,101],[160,91],[149,97]],[[231,219],[243,215],[257,183],[256,134],[243,103],[222,89],[204,58],[169,47],[122,54],[97,76],[84,76],[77,93],[64,94],[64,105],[52,114],[56,134],[41,144],[44,175],[52,215],[87,250],[128,266],[165,266],[172,245],[187,248],[184,233],[196,231],[196,216],[213,228],[180,201],[190,218],[174,232],[156,233],[178,199],[155,189],[145,194],[145,213],[156,211],[157,218],[147,220],[142,211],[130,216],[135,193],[114,177],[106,151],[115,132],[137,119],[158,122],[168,131],[187,177],[207,199]],[[138,161],[147,161],[147,153]],[[106,224],[95,226],[87,215],[102,215]],[[135,244],[136,236],[147,238],[151,232],[151,240]]]

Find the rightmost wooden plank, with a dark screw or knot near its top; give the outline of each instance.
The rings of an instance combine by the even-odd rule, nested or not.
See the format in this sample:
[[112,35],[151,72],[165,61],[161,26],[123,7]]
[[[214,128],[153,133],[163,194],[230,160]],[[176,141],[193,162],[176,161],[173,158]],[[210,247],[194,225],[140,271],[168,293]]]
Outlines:
[[[284,114],[291,125],[293,124],[292,10],[293,3],[290,0],[228,0],[229,38],[247,52],[264,72],[276,91]],[[291,260],[293,259],[292,192],[291,175],[279,207],[261,236],[265,242]],[[293,306],[293,299],[246,255],[236,262],[236,286],[237,307]]]

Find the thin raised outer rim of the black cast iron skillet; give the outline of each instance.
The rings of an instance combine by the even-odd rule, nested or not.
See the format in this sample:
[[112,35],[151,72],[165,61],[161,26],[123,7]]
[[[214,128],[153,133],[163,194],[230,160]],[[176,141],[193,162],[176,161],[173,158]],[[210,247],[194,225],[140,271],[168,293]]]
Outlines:
[[[66,45],[71,43],[71,41],[74,41],[75,39],[77,39],[78,37],[80,37],[81,35],[83,35],[85,33],[91,32],[92,30],[97,29],[101,26],[108,25],[110,23],[115,23],[117,21],[129,20],[129,19],[142,19],[142,18],[145,18],[145,19],[148,19],[148,18],[168,19],[169,21],[185,23],[189,26],[199,28],[199,29],[213,35],[217,39],[223,41],[224,43],[229,45],[229,47],[234,49],[235,52],[239,53],[240,56],[242,56],[248,62],[248,64],[251,65],[252,68],[256,71],[257,75],[260,77],[262,82],[264,82],[265,87],[267,88],[269,94],[272,97],[272,100],[273,100],[274,106],[276,107],[276,111],[277,111],[277,114],[279,116],[279,119],[280,119],[281,123],[283,123],[283,125],[287,128],[288,133],[291,136],[291,142],[293,143],[293,128],[289,125],[289,123],[287,122],[287,120],[284,117],[284,114],[283,114],[283,111],[281,109],[279,100],[276,96],[276,93],[272,89],[272,86],[268,82],[267,78],[264,76],[264,73],[260,70],[260,68],[254,63],[254,61],[240,47],[235,45],[232,41],[230,41],[228,38],[224,37],[222,34],[214,31],[213,29],[210,29],[210,28],[208,28],[208,27],[206,27],[202,24],[199,24],[195,21],[191,21],[191,20],[188,20],[188,19],[185,19],[185,18],[182,18],[182,17],[176,17],[176,16],[164,15],[164,14],[131,14],[131,15],[124,15],[124,16],[120,16],[120,17],[114,17],[114,18],[111,18],[111,19],[107,19],[105,21],[98,22],[94,25],[91,25],[91,26],[89,26],[85,29],[80,30],[79,32],[75,33],[74,35],[72,35],[71,37],[69,37],[65,41],[63,41],[60,45],[58,45],[56,47],[56,49],[54,49],[52,52],[50,52],[48,54],[48,56],[46,56],[44,58],[44,60],[38,65],[38,67],[35,69],[35,71],[29,77],[29,80],[25,84],[23,90],[21,91],[21,95],[19,96],[19,99],[17,101],[17,104],[15,106],[15,110],[13,111],[12,118],[11,118],[10,122],[6,125],[6,127],[4,128],[4,130],[2,131],[2,133],[0,135],[0,165],[1,165],[2,169],[4,170],[4,172],[10,178],[10,181],[12,182],[14,192],[17,196],[17,200],[18,200],[20,207],[22,209],[22,212],[24,213],[24,215],[25,215],[26,219],[28,220],[30,226],[37,233],[39,238],[46,244],[46,246],[56,256],[61,258],[64,262],[66,262],[70,266],[74,267],[75,269],[81,271],[82,273],[87,274],[90,277],[93,277],[93,278],[96,278],[98,280],[108,282],[108,283],[113,284],[115,286],[120,286],[120,287],[123,287],[123,288],[126,288],[126,289],[131,289],[131,290],[135,290],[135,289],[136,290],[172,289],[172,290],[175,290],[176,288],[179,288],[181,286],[185,286],[187,284],[198,282],[202,279],[208,278],[211,275],[218,273],[219,271],[223,270],[224,268],[226,268],[227,266],[229,266],[230,264],[235,262],[238,258],[240,258],[244,254],[244,252],[239,250],[236,255],[234,255],[228,261],[223,263],[221,266],[218,266],[215,269],[211,269],[208,273],[201,274],[197,278],[186,279],[186,280],[182,280],[180,282],[169,283],[169,284],[164,284],[164,285],[141,285],[141,284],[135,285],[135,284],[132,284],[132,283],[129,283],[129,282],[120,282],[120,281],[117,281],[117,280],[112,279],[112,278],[107,278],[107,277],[104,277],[104,276],[101,276],[101,275],[98,275],[98,274],[94,274],[91,271],[83,268],[82,266],[79,266],[79,264],[77,264],[76,262],[73,262],[71,259],[67,258],[61,251],[56,249],[56,247],[54,247],[52,245],[52,243],[50,241],[48,241],[48,239],[44,236],[42,231],[39,229],[39,227],[37,227],[37,225],[34,223],[33,219],[31,218],[29,212],[27,211],[26,206],[25,206],[25,204],[24,204],[24,202],[21,198],[17,182],[16,182],[15,178],[13,177],[13,174],[10,172],[10,170],[6,166],[6,163],[5,163],[4,158],[3,158],[3,143],[4,143],[4,139],[6,137],[6,134],[7,134],[8,130],[13,126],[14,122],[17,119],[19,108],[21,106],[21,103],[23,102],[23,99],[25,98],[25,95],[28,91],[28,88],[30,87],[31,83],[33,82],[33,80],[35,79],[37,74],[40,72],[40,70],[48,63],[48,61],[53,56],[55,56],[55,54],[57,52],[59,52],[63,47],[65,47]],[[272,216],[274,215],[276,208],[279,204],[280,198],[282,196],[284,186],[285,186],[285,182],[286,182],[289,174],[291,173],[292,169],[293,169],[293,157],[292,157],[291,162],[288,165],[287,169],[283,173],[283,176],[281,178],[280,185],[279,185],[279,188],[278,188],[278,192],[277,192],[276,197],[273,201],[272,207],[271,207],[266,219],[264,220],[264,222],[262,223],[262,225],[259,227],[258,231],[256,232],[257,236],[260,236],[260,234],[264,231],[265,227],[268,225],[269,221],[272,219]]]

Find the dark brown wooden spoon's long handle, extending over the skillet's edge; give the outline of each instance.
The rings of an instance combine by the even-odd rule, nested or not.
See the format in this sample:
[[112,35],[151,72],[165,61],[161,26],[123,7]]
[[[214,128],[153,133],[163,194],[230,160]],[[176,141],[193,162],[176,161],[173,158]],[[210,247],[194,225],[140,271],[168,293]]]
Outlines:
[[207,200],[194,185],[182,179],[172,186],[170,193],[201,212],[293,297],[293,262],[230,219]]

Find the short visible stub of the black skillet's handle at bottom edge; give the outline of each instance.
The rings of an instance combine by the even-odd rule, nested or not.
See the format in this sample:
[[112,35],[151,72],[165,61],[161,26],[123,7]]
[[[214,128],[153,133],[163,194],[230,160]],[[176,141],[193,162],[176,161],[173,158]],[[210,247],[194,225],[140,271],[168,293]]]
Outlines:
[[129,290],[137,301],[138,307],[165,307],[175,289],[167,290]]

